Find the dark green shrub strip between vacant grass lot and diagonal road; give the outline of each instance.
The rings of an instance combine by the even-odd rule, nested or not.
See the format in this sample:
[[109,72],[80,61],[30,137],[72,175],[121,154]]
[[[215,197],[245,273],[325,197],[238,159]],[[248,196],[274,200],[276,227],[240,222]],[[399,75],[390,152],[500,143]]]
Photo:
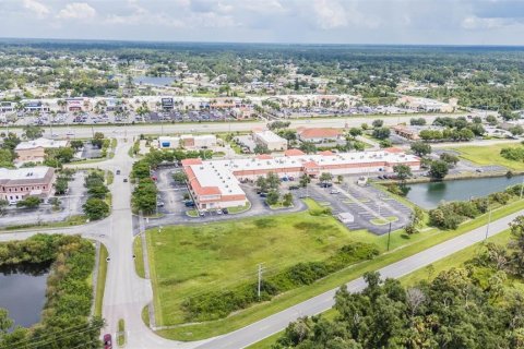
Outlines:
[[373,244],[354,242],[341,248],[325,261],[298,263],[276,275],[263,278],[260,299],[257,282],[191,297],[182,303],[186,320],[201,322],[226,317],[231,312],[271,300],[282,292],[311,285],[353,263],[371,260],[378,254],[379,251]]

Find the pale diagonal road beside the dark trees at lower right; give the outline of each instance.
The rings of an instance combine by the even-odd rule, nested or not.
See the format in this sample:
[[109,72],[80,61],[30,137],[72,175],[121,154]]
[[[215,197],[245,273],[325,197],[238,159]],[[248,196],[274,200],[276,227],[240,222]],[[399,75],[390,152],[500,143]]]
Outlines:
[[[520,212],[510,215],[505,218],[492,221],[489,228],[490,236],[499,233],[508,228],[516,216],[523,214]],[[416,269],[425,267],[434,263],[445,256],[449,256],[457,251],[461,251],[474,243],[480,242],[485,239],[486,226],[472,230],[457,238],[448,240],[438,245],[434,245],[426,251],[417,253],[400,262],[388,265],[378,270],[382,277],[398,278],[407,275]],[[366,284],[362,278],[358,278],[347,284],[349,291],[358,292],[365,288]],[[288,308],[275,315],[269,316],[250,326],[243,327],[236,332],[229,333],[225,336],[213,339],[204,345],[200,345],[199,349],[231,349],[246,348],[257,341],[260,341],[282,329],[284,329],[289,322],[297,320],[300,316],[311,316],[331,309],[334,304],[334,296],[336,289],[324,292],[320,296],[311,298],[302,303]]]

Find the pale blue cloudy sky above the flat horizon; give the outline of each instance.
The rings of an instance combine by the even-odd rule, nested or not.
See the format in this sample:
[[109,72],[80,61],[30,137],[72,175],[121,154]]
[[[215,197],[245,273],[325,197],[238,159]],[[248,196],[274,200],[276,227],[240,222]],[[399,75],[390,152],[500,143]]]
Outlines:
[[524,45],[524,0],[0,0],[0,37]]

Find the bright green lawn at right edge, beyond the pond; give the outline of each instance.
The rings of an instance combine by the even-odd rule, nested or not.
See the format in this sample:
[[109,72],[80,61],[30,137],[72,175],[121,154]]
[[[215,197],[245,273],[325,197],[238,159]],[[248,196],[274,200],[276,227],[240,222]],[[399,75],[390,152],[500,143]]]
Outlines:
[[524,170],[524,163],[508,160],[500,156],[502,148],[521,146],[519,143],[509,143],[489,146],[460,146],[452,149],[458,152],[462,158],[478,165],[500,165],[512,170]]

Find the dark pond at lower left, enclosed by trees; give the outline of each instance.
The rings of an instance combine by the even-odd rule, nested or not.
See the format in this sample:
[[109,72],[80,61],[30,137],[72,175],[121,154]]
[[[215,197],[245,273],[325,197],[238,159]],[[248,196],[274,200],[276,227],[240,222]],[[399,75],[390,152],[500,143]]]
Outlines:
[[0,308],[9,311],[15,325],[28,327],[40,321],[49,268],[49,263],[0,266]]

